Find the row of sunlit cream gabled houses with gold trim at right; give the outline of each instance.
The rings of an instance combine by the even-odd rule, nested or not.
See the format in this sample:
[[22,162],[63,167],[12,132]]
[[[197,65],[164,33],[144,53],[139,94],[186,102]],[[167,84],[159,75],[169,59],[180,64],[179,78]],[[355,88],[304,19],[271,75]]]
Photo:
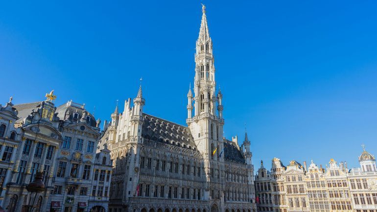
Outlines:
[[260,212],[377,212],[375,157],[365,149],[360,168],[330,160],[326,169],[313,162],[306,167],[291,161],[286,167],[274,158],[271,171],[261,167],[256,175]]

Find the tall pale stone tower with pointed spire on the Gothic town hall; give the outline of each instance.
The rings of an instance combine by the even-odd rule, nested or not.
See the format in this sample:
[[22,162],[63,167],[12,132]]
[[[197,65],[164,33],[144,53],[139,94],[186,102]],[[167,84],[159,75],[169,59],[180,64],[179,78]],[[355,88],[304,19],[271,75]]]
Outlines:
[[[206,8],[204,5],[202,12],[199,37],[196,41],[194,96],[192,97],[190,88],[187,94],[188,117],[186,122],[198,151],[204,157],[204,167],[207,177],[205,195],[210,195],[210,191],[213,192],[214,184],[216,184],[212,182],[211,172],[214,170],[220,172],[222,168],[219,162],[224,161],[224,157],[219,157],[221,151],[224,149],[224,119],[222,118],[222,94],[219,91],[216,95],[215,68],[212,54],[213,46],[208,31]],[[194,102],[193,116],[192,102]],[[216,108],[218,112],[216,112]],[[219,190],[217,191],[219,192]]]

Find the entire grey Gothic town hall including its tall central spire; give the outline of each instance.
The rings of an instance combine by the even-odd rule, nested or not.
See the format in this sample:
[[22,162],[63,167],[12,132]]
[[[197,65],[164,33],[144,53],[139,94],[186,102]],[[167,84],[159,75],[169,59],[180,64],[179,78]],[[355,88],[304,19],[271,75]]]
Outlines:
[[105,124],[99,144],[109,147],[114,162],[110,212],[256,211],[247,134],[242,146],[237,137],[223,137],[212,47],[203,6],[187,126],[144,113],[141,87],[133,106],[126,100]]

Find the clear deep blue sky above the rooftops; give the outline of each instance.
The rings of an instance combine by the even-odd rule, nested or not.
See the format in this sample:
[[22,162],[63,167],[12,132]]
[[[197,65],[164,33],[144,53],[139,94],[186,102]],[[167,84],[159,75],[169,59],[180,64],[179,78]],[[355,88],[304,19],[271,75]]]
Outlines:
[[[185,124],[199,0],[2,1],[0,102],[85,103],[109,119],[137,94],[144,111]],[[204,0],[225,136],[256,169],[377,154],[377,1]]]

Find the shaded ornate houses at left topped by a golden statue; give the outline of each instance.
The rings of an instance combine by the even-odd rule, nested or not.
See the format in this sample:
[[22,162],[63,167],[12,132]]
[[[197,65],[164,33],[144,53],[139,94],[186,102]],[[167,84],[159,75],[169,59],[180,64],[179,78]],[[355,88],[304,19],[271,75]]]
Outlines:
[[[84,105],[69,101],[55,107],[53,93],[46,96],[53,98],[19,105],[10,100],[0,107],[1,207],[26,210],[26,185],[43,172],[46,189],[36,196],[35,212],[104,211],[112,162],[107,148],[96,153],[100,120]],[[94,184],[102,191],[92,196]]]

